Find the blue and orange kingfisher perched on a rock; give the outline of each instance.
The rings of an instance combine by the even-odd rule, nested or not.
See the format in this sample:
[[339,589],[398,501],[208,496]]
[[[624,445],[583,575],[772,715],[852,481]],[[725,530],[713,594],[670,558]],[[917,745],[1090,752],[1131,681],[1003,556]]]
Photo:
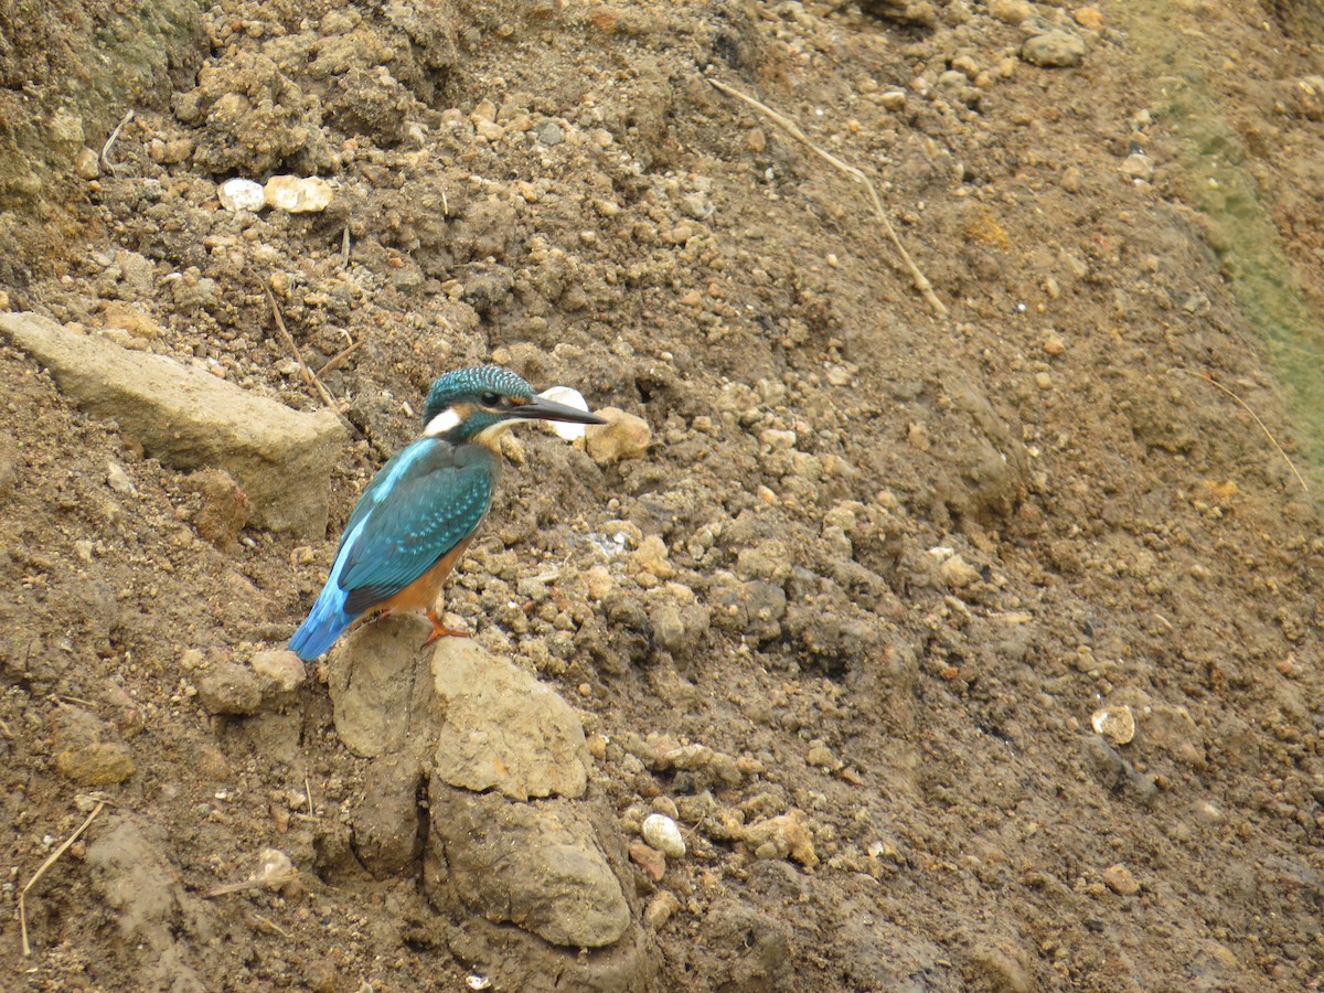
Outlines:
[[290,638],[299,658],[311,662],[369,612],[422,610],[432,621],[425,645],[458,634],[437,616],[437,596],[491,507],[500,436],[520,420],[606,424],[535,396],[499,365],[455,369],[433,381],[422,437],[381,467],[344,526],[331,575]]

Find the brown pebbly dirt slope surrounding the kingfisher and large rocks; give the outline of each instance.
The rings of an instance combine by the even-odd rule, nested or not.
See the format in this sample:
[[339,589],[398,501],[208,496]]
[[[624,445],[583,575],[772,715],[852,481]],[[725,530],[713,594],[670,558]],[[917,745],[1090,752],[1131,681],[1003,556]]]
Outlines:
[[[236,535],[0,347],[0,988],[575,957],[360,865],[324,669],[263,719],[197,696],[283,646],[428,383],[489,360],[651,429],[606,463],[524,433],[446,598],[576,707],[622,849],[685,829],[629,870],[629,984],[1317,988],[1308,5],[175,9],[0,4],[0,135],[49,139],[0,188],[5,308],[316,410],[270,287],[310,365],[355,346],[322,379],[357,437],[326,535]],[[131,103],[66,71],[144,37]],[[859,184],[710,81],[871,177],[947,312]],[[331,205],[220,205],[273,173]],[[24,957],[20,892],[98,798]],[[267,847],[295,882],[205,898]]]

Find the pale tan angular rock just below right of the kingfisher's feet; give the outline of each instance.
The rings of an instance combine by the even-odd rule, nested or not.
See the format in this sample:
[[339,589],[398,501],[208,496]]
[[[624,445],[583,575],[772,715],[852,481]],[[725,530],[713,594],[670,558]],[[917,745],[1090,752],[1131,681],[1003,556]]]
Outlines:
[[445,712],[433,752],[438,779],[512,800],[584,796],[584,726],[551,687],[467,638],[438,642],[432,674]]

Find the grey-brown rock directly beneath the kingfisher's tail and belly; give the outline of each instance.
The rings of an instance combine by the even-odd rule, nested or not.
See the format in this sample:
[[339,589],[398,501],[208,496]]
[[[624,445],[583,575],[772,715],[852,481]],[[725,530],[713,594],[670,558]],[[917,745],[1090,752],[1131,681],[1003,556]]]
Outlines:
[[[327,690],[335,730],[355,755],[376,759],[406,743],[428,747],[430,731],[410,736],[410,727],[436,723],[428,714],[432,679],[428,654],[420,651],[429,625],[410,614],[383,617],[342,638],[327,658]],[[446,638],[441,643],[455,641]]]

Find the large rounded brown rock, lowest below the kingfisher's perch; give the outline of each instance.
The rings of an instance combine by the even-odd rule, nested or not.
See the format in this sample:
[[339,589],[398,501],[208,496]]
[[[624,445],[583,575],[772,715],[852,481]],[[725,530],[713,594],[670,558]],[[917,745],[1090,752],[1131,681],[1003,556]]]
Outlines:
[[514,802],[436,777],[429,800],[446,882],[487,920],[571,948],[605,948],[629,929],[621,882],[577,802]]

